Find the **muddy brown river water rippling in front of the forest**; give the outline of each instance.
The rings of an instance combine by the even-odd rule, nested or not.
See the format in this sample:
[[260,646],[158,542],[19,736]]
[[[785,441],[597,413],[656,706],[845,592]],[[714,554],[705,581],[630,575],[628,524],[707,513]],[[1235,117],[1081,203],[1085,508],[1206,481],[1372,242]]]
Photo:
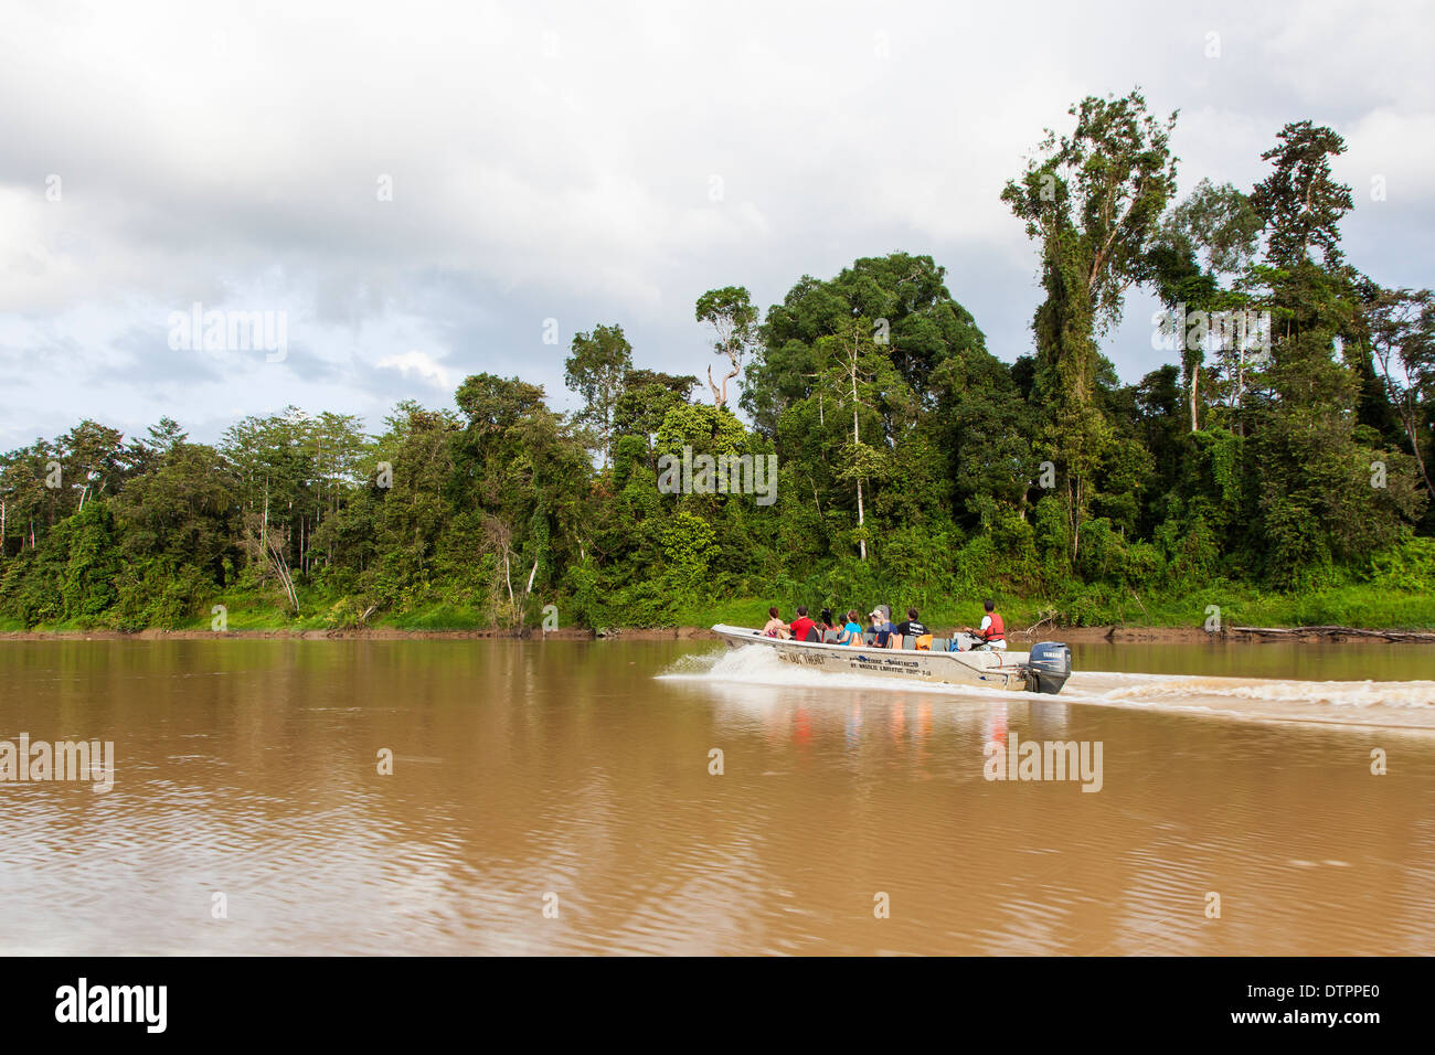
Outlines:
[[113,744],[0,782],[0,953],[1435,953],[1435,650],[1073,653],[0,642],[0,741]]

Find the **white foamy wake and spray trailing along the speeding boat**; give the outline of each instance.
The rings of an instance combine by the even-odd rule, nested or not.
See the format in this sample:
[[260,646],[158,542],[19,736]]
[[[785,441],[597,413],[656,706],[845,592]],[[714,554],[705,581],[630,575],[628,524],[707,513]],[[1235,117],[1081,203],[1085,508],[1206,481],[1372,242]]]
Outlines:
[[1243,721],[1358,725],[1435,732],[1435,682],[1304,682],[1210,675],[1125,672],[1072,673],[1058,696],[1000,692],[957,685],[923,685],[893,677],[822,673],[784,663],[771,649],[749,646],[683,656],[659,675],[695,686],[758,686],[811,692],[921,693],[960,702],[1022,700],[1042,705],[1105,706],[1128,711],[1204,713]]

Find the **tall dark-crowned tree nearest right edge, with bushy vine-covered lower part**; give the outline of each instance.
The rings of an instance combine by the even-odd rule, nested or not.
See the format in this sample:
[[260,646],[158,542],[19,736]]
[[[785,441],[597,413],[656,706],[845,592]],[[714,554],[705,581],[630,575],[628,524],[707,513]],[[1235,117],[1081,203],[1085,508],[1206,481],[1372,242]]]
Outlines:
[[[1251,195],[1266,257],[1250,286],[1277,324],[1248,471],[1267,578],[1289,589],[1393,543],[1421,498],[1412,459],[1360,421],[1369,349],[1339,230],[1352,198],[1329,164],[1345,141],[1309,121],[1286,125],[1279,139],[1261,155],[1271,172]],[[1376,465],[1385,472],[1372,484]]]

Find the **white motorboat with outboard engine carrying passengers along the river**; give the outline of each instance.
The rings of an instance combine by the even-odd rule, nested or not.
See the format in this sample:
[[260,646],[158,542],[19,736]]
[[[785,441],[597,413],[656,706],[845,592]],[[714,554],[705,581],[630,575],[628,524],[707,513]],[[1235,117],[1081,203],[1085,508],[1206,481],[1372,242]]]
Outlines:
[[913,637],[903,639],[900,649],[880,649],[871,632],[864,634],[864,644],[835,644],[768,637],[761,630],[723,623],[712,630],[730,647],[772,649],[784,663],[835,673],[1045,693],[1060,692],[1072,673],[1071,649],[1060,642],[1039,642],[1030,652],[1003,652],[980,649],[974,637],[959,633],[933,637],[930,649],[917,649]]

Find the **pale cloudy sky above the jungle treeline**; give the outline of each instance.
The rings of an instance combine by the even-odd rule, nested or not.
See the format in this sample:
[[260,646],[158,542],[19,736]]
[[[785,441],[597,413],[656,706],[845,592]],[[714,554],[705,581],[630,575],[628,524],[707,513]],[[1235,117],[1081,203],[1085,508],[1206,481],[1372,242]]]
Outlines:
[[[485,370],[574,409],[574,333],[702,375],[703,291],[893,251],[1010,362],[1040,290],[1002,187],[1135,86],[1180,111],[1182,195],[1335,128],[1347,258],[1435,286],[1432,39],[1418,3],[0,0],[0,451],[287,405],[380,429]],[[1155,310],[1105,340],[1128,382]],[[251,317],[273,340],[231,339]]]

